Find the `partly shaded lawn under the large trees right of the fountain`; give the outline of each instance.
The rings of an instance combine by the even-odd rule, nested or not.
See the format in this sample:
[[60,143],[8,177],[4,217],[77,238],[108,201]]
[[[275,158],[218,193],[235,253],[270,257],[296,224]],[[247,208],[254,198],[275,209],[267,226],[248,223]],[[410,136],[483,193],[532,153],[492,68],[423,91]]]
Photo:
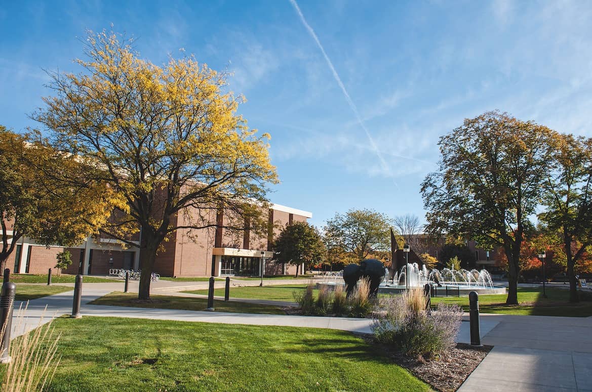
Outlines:
[[[491,294],[479,296],[479,310],[481,313],[503,313],[506,315],[530,315],[530,316],[568,316],[588,317],[592,316],[592,301],[585,300],[577,304],[571,304],[569,291],[547,288],[548,298],[543,298],[542,288],[519,287],[519,306],[506,305],[506,294]],[[457,303],[467,312],[469,309],[468,297],[436,297],[432,298],[432,304],[438,302]]]

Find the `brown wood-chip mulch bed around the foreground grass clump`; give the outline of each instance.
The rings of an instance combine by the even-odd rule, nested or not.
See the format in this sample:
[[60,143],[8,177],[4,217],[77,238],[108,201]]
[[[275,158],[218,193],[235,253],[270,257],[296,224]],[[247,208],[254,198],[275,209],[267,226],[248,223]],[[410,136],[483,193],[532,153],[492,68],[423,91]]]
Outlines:
[[466,378],[481,363],[493,346],[473,347],[458,343],[455,348],[444,351],[436,358],[413,358],[394,351],[375,341],[374,336],[357,333],[369,344],[377,345],[387,352],[392,361],[406,368],[415,377],[420,378],[432,388],[440,392],[454,392],[461,387]]

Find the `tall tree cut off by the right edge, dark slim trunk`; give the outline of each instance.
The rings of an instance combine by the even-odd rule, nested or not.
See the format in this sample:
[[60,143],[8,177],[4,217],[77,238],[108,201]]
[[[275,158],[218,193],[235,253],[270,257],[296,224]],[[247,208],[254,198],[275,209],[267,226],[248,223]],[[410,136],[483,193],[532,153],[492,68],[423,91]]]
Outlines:
[[552,146],[539,219],[564,245],[570,302],[578,302],[575,265],[592,245],[592,139],[556,134]]

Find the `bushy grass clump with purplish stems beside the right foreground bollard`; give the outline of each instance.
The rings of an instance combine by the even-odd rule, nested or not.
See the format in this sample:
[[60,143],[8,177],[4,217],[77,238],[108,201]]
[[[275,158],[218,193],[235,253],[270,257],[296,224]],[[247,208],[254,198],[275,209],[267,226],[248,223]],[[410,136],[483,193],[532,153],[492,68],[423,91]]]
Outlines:
[[440,303],[428,312],[426,300],[419,288],[383,299],[383,312],[378,313],[372,325],[377,340],[404,354],[423,358],[453,347],[461,326],[462,308]]

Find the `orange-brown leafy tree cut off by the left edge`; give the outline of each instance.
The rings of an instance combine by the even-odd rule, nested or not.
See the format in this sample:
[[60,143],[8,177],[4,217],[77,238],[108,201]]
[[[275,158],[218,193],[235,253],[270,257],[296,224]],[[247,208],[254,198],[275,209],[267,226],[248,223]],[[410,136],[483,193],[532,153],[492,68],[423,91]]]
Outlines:
[[107,220],[113,195],[94,179],[78,178],[82,168],[72,155],[0,125],[0,270],[22,237],[78,245]]

